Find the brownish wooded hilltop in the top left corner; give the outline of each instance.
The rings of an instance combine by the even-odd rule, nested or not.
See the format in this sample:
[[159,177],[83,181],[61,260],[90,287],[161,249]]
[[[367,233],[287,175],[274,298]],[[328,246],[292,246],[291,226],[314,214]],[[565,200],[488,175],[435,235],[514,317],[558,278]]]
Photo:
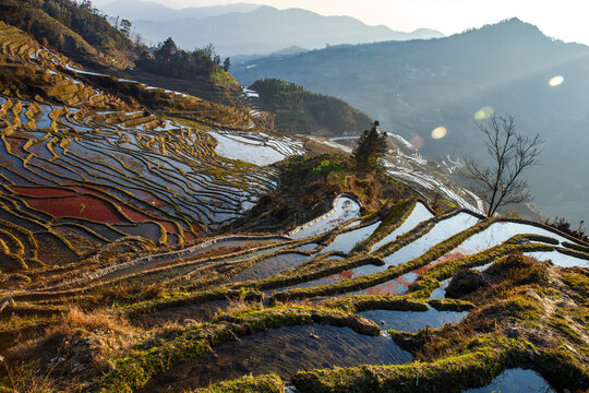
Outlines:
[[[132,46],[129,38],[111,26],[106,15],[99,14],[88,0],[4,0],[0,20],[64,52],[75,52],[85,43],[120,50]],[[72,32],[85,43],[76,43],[80,39]]]

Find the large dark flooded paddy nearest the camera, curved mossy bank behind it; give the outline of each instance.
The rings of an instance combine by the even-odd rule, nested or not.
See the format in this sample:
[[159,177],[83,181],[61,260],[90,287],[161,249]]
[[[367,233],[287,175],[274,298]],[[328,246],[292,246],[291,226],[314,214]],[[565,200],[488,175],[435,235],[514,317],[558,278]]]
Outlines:
[[411,360],[388,335],[377,337],[349,327],[286,326],[220,344],[214,352],[153,379],[141,392],[183,392],[247,374],[277,373],[359,365],[396,365]]

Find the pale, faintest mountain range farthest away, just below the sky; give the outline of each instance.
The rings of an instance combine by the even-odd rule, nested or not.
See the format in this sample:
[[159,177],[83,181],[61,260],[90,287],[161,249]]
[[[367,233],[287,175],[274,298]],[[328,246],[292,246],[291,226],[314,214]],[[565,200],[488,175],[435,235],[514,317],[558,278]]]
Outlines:
[[213,43],[221,56],[271,53],[292,46],[316,49],[327,44],[443,36],[428,28],[402,33],[386,26],[369,26],[349,16],[243,3],[172,10],[147,1],[116,0],[103,11],[111,17],[130,20],[135,32],[153,44],[170,36],[187,49]]

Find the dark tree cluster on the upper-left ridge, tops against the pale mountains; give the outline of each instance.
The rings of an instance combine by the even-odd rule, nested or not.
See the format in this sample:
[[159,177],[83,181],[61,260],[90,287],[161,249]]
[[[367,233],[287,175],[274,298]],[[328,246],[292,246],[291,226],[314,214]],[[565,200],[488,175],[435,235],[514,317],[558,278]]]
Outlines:
[[178,48],[170,37],[151,50],[144,47],[137,66],[160,75],[190,80],[212,75],[221,69],[228,71],[231,63],[226,58],[221,66],[221,58],[213,44],[187,51]]

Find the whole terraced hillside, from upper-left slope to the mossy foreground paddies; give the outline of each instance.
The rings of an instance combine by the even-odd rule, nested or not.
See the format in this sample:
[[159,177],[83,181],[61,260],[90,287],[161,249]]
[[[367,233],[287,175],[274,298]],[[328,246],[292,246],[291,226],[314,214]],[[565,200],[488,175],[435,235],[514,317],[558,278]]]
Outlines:
[[582,239],[0,44],[0,392],[589,389]]

